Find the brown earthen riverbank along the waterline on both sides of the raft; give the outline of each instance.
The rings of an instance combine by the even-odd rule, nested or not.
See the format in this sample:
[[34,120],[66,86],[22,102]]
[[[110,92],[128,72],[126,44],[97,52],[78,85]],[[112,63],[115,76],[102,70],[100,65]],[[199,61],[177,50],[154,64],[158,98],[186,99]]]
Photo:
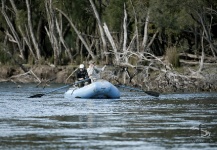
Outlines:
[[[46,86],[49,83],[73,83],[76,80],[75,71],[77,65],[53,66],[53,65],[24,65],[28,72],[24,72],[18,66],[0,66],[0,82],[36,83],[36,85]],[[99,67],[102,67],[99,65]],[[101,73],[101,77],[114,84],[128,84],[138,86],[144,90],[154,90],[159,92],[212,92],[217,91],[217,67],[215,65],[205,66],[199,75],[191,75],[194,66],[184,66],[179,68],[179,74],[174,72],[159,73],[150,72],[149,76],[144,71],[138,71],[132,79],[126,74],[123,68],[107,66]],[[134,74],[135,70],[129,70]]]

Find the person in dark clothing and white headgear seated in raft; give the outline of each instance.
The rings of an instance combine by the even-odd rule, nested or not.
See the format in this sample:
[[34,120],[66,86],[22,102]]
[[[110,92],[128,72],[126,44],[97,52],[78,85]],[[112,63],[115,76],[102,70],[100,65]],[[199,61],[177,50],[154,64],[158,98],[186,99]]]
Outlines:
[[[84,64],[80,64],[79,69],[77,71],[77,81],[82,81],[87,78],[89,78],[87,70],[85,69]],[[86,84],[86,82],[90,83],[90,80],[87,80],[85,82],[80,82],[78,86],[83,87],[84,84]]]

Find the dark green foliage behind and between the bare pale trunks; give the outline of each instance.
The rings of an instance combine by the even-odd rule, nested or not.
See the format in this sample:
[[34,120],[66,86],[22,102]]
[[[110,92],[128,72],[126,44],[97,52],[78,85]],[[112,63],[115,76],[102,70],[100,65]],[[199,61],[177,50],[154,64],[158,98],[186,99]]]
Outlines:
[[[10,35],[10,40],[8,40],[7,45],[10,47],[10,51],[14,52],[15,56],[19,56],[19,50],[16,39],[14,38],[14,35],[16,35],[20,41],[22,41],[21,46],[25,47],[26,49],[26,55],[28,56],[29,63],[34,64],[36,60],[31,56],[31,53],[29,52],[28,46],[25,42],[23,42],[23,37],[20,34],[18,30],[18,25],[21,27],[21,29],[26,32],[28,31],[26,28],[27,23],[27,8],[25,1],[14,1],[16,8],[18,10],[17,16],[15,16],[14,9],[12,8],[10,1],[4,1],[5,2],[5,12],[7,16],[10,19],[10,22],[14,26],[14,30],[12,31],[11,28],[8,26],[8,24],[5,21],[5,18],[3,15],[0,15],[0,27],[1,27],[1,34],[0,34],[0,42],[5,40],[5,32],[8,32],[8,35]],[[44,27],[48,27],[48,18],[46,14],[45,9],[45,2],[47,1],[31,1],[30,3],[30,9],[31,9],[31,17],[32,17],[32,25],[33,25],[33,32],[35,34],[35,37],[37,39],[36,42],[39,45],[41,49],[41,55],[43,61],[50,61],[50,63],[53,62],[53,49],[51,46],[51,41],[48,38],[48,35],[45,31]],[[102,19],[102,23],[106,23],[109,27],[109,30],[111,33],[118,32],[121,34],[116,34],[115,36],[115,42],[118,46],[122,45],[122,43],[118,43],[122,37],[122,25],[123,25],[123,17],[124,17],[124,4],[126,4],[127,13],[128,13],[128,38],[127,45],[129,45],[129,42],[132,40],[132,37],[134,36],[134,27],[137,26],[139,30],[139,36],[138,41],[141,43],[143,38],[143,30],[145,25],[145,19],[147,17],[147,11],[150,10],[150,22],[148,26],[148,40],[150,40],[150,37],[153,36],[153,33],[156,32],[156,29],[161,29],[157,37],[155,38],[153,45],[151,46],[152,51],[153,49],[156,49],[156,51],[160,51],[158,54],[162,54],[165,52],[165,47],[174,45],[174,44],[180,44],[183,47],[189,46],[189,43],[192,44],[192,47],[195,47],[194,49],[197,49],[199,45],[201,44],[201,41],[196,41],[197,47],[194,45],[195,42],[195,35],[193,35],[193,32],[197,32],[198,39],[200,39],[199,33],[202,33],[203,28],[200,23],[200,18],[198,14],[202,14],[202,17],[204,19],[204,23],[206,27],[209,27],[212,31],[213,24],[217,21],[217,15],[215,11],[210,11],[211,9],[216,10],[217,9],[217,2],[211,1],[211,0],[93,0],[93,2],[96,5],[97,11]],[[61,29],[64,33],[63,37],[65,42],[67,43],[67,46],[72,48],[74,51],[76,51],[76,48],[81,50],[81,47],[83,46],[81,44],[81,41],[77,40],[77,34],[74,32],[74,29],[68,26],[68,21],[61,17],[61,15],[55,11],[55,8],[61,9],[65,14],[71,18],[71,21],[75,24],[76,28],[81,32],[81,35],[83,38],[87,41],[89,45],[91,45],[92,50],[95,49],[103,49],[102,43],[100,39],[99,29],[96,23],[96,18],[93,13],[92,7],[90,5],[90,2],[88,0],[52,0],[52,7],[53,7],[53,15],[55,15],[56,19],[61,22]],[[7,8],[7,9],[6,9]],[[134,9],[133,9],[134,8]],[[209,10],[209,11],[208,11]],[[135,12],[134,12],[135,11]],[[135,23],[135,16],[137,18],[137,23]],[[211,22],[212,21],[212,22]],[[55,24],[53,25],[54,32],[56,32]],[[195,31],[194,29],[197,28]],[[58,34],[54,33],[57,36]],[[113,36],[114,34],[112,34]],[[213,36],[214,33],[211,34]],[[28,36],[26,36],[29,38]],[[182,40],[180,40],[182,38]],[[209,37],[207,37],[209,38]],[[8,36],[9,39],[9,36]],[[210,38],[211,41],[215,41],[216,39]],[[157,41],[159,40],[159,41]],[[205,39],[206,40],[206,39]],[[31,39],[29,39],[31,41]],[[174,42],[171,42],[174,41]],[[59,41],[57,41],[59,42]],[[3,43],[3,42],[2,42]],[[160,44],[159,44],[160,43]],[[22,45],[24,44],[24,45]],[[33,47],[33,43],[30,43]],[[59,43],[58,43],[59,44]],[[134,45],[133,45],[134,44]],[[132,43],[132,47],[137,47],[136,40],[134,43]],[[108,44],[108,47],[110,45]],[[190,47],[190,46],[189,46]],[[168,48],[166,51],[166,55],[170,56],[169,59],[174,66],[179,66],[178,58],[173,57],[176,56],[178,53],[176,50],[171,50],[173,48]],[[189,48],[190,49],[190,48]],[[206,49],[209,49],[208,46]],[[34,48],[33,48],[34,51]],[[83,56],[88,56],[86,49],[82,49]],[[34,51],[35,53],[35,51]],[[85,53],[85,54],[84,54]],[[60,54],[62,60],[62,64],[69,63],[69,58],[67,55],[65,55],[64,50],[61,51]],[[80,62],[81,59],[86,58],[76,58],[76,62]],[[6,63],[9,61],[8,56],[3,52],[0,51],[0,61],[1,63]],[[100,60],[101,61],[101,60]],[[136,60],[134,58],[130,60],[132,64],[136,63]]]

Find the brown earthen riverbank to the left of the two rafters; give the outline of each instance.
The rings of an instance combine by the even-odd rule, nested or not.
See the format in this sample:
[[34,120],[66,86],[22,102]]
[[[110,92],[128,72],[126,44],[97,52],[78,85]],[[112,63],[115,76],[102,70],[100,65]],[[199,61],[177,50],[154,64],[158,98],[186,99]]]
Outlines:
[[[24,72],[17,66],[0,66],[0,82],[46,82],[52,81],[55,83],[65,83],[68,75],[76,69],[74,66],[24,66],[29,72]],[[74,78],[69,78],[67,82],[73,81]]]

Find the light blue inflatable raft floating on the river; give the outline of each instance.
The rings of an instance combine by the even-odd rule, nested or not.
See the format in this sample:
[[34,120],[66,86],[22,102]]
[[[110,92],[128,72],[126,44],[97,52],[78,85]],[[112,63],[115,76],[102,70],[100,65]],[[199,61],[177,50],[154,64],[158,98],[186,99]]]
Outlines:
[[118,99],[120,98],[120,91],[106,80],[97,80],[82,88],[70,88],[65,92],[64,97],[67,99]]

